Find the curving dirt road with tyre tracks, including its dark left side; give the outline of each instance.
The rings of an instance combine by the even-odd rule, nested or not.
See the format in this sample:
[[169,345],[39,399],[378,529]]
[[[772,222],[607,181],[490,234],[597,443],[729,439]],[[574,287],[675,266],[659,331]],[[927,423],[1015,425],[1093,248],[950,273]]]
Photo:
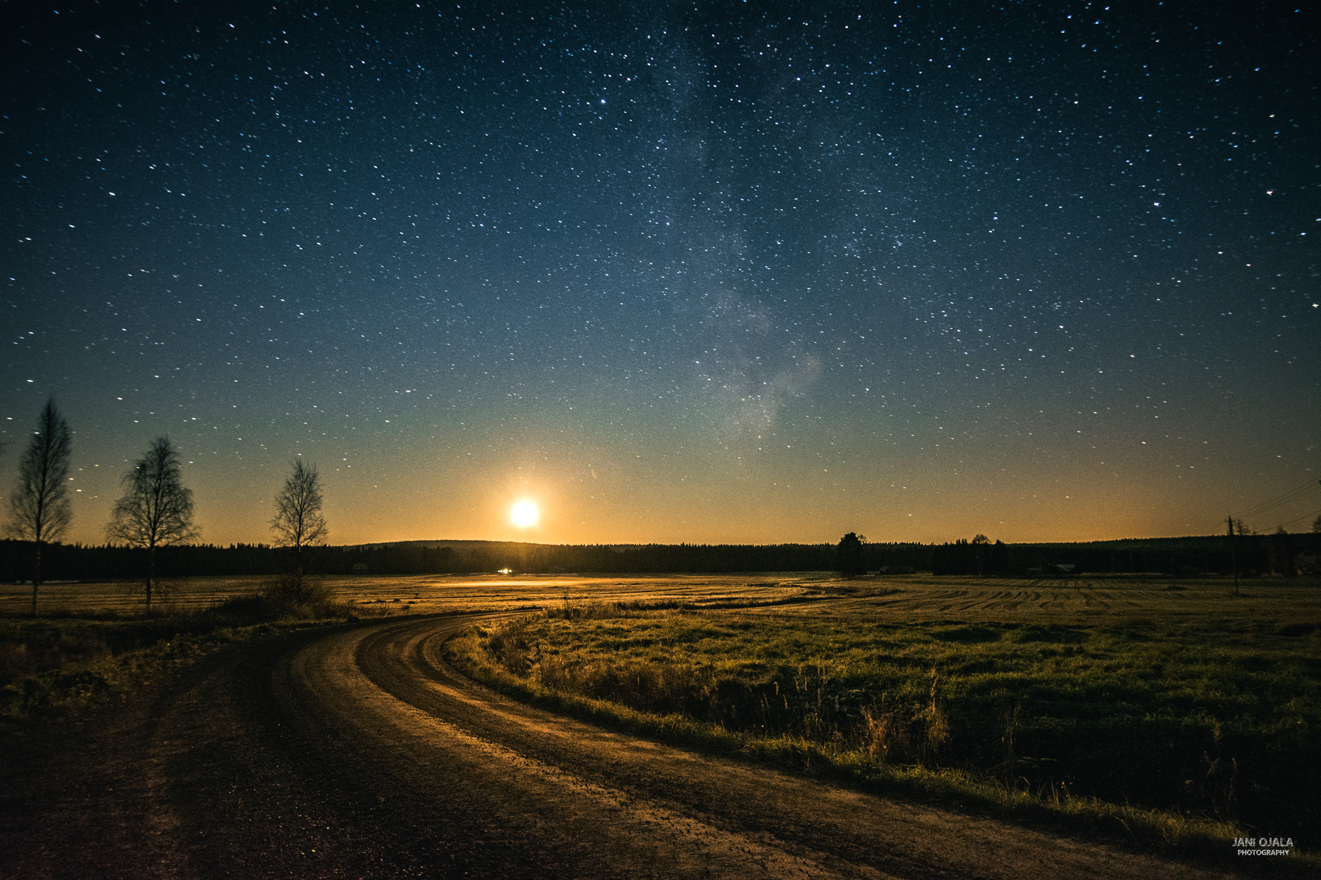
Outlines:
[[13,877],[1202,877],[601,731],[441,658],[473,617],[234,645],[0,765]]

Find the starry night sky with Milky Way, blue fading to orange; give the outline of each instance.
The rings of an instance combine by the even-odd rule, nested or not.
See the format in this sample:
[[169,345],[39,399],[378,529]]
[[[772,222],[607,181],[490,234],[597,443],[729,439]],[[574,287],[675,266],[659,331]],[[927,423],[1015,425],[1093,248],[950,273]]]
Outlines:
[[86,542],[160,434],[219,544],[1321,508],[1305,9],[638,5],[5,4],[4,491],[53,394]]

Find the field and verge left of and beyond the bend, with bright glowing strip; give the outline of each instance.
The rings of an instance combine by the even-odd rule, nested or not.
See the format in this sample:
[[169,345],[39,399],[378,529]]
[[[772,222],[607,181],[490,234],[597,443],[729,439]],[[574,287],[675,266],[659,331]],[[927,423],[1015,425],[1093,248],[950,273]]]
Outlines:
[[748,578],[336,577],[291,600],[276,578],[181,578],[157,583],[151,615],[135,582],[0,584],[0,726],[71,718],[152,686],[230,641],[291,627],[400,613],[534,611],[618,599],[701,607],[782,602],[779,581]]

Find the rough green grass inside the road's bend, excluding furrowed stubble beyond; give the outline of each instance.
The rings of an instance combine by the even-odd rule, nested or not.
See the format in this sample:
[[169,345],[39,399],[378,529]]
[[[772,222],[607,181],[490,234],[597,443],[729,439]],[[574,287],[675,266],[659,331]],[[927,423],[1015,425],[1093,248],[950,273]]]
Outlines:
[[[1254,687],[1263,699],[1238,706],[1232,720],[1203,718],[1198,712],[1206,706],[1223,714],[1226,701],[1234,703],[1244,685],[1229,681],[1238,666],[1264,666],[1223,639],[1184,633],[1184,644],[1162,648],[1180,654],[1206,641],[1207,650],[1185,652],[1176,661],[1185,668],[1169,674],[1157,669],[1153,677],[1152,662],[1160,662],[1148,654],[1156,635],[1132,627],[956,621],[841,627],[839,620],[565,602],[564,608],[469,629],[449,641],[446,653],[466,674],[505,694],[630,734],[931,803],[1234,860],[1254,871],[1316,871],[1321,859],[1299,848],[1314,827],[1310,817],[1295,814],[1288,830],[1281,821],[1291,809],[1312,811],[1305,805],[1306,792],[1314,790],[1316,743],[1299,728],[1316,728],[1316,682],[1304,681],[1299,669],[1276,672],[1293,678],[1273,687],[1267,687],[1268,677],[1258,677]],[[1271,644],[1281,654],[1296,650]],[[1168,681],[1148,687],[1153,678]],[[1292,693],[1299,702],[1272,706],[1267,690]],[[1162,702],[1186,716],[1170,716],[1156,705]],[[1284,735],[1280,724],[1271,727],[1275,715],[1285,719]],[[1141,741],[1110,743],[1133,736],[1169,740],[1147,743],[1159,745],[1157,752],[1201,749],[1182,757],[1201,772],[1186,784],[1144,781],[1152,773],[1182,776],[1188,767],[1161,767],[1170,763],[1165,753],[1141,757]],[[1247,753],[1254,743],[1264,757]],[[1082,759],[1065,765],[1071,755],[1086,755],[1094,765]],[[1258,757],[1301,774],[1293,782],[1297,800],[1244,823],[1235,786],[1260,788],[1243,778],[1266,772]],[[1107,761],[1115,763],[1108,776]],[[1166,784],[1182,794],[1182,806],[1177,800],[1173,809],[1151,803]],[[1124,785],[1132,794],[1151,794],[1148,802]],[[1258,792],[1252,803],[1262,800]],[[1263,835],[1292,836],[1291,856],[1235,859],[1235,838]]]

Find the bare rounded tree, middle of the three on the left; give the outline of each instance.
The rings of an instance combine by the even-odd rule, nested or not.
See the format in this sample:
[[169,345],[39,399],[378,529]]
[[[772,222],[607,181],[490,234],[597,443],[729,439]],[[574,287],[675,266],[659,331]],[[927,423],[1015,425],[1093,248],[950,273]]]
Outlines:
[[186,544],[197,537],[193,528],[193,492],[184,488],[178,451],[168,437],[157,437],[147,455],[124,474],[124,496],[115,503],[106,534],[147,549],[147,612],[152,610],[156,579],[156,549]]

